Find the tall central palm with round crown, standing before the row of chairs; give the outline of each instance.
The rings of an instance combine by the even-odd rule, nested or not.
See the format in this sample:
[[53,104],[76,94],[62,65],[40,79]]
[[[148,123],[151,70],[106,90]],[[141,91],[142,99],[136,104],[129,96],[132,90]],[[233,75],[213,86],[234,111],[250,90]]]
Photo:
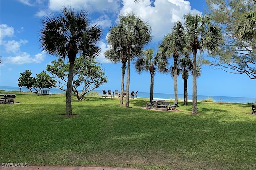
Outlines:
[[[126,92],[129,92],[132,49],[141,49],[151,40],[151,28],[134,13],[119,15],[118,20],[117,37],[121,38],[117,38],[115,44],[122,44],[127,49]],[[129,93],[126,93],[125,107],[129,107]]]

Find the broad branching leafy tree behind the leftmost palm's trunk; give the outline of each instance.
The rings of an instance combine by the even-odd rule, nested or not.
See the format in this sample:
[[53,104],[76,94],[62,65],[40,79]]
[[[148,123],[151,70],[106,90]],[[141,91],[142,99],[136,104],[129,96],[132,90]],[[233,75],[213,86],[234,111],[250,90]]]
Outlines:
[[[46,70],[58,81],[56,87],[66,91],[64,86],[68,82],[69,63],[65,64],[64,60],[59,58],[58,61],[52,61],[52,64],[53,66],[47,65]],[[85,94],[108,82],[108,78],[104,74],[99,62],[90,58],[84,59],[82,56],[78,57],[74,63],[74,74],[72,78],[72,92],[77,99],[83,99]],[[77,88],[81,86],[83,89],[79,93]]]

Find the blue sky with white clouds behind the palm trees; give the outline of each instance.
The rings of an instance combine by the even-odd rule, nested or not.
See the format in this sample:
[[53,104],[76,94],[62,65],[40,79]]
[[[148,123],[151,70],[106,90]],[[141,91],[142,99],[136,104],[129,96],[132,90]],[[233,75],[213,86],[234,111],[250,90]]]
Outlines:
[[[109,82],[97,90],[120,90],[121,64],[110,63],[104,58],[109,49],[107,33],[116,25],[118,14],[135,12],[152,28],[152,41],[146,47],[157,48],[164,35],[171,31],[175,21],[188,12],[201,12],[207,8],[204,0],[150,0],[135,4],[133,0],[1,0],[1,59],[0,86],[18,86],[20,72],[31,70],[32,76],[46,70],[46,65],[56,60],[56,56],[44,53],[40,48],[39,31],[42,16],[58,12],[64,5],[85,8],[92,24],[103,30],[98,46],[102,49],[96,61],[102,62]],[[150,5],[151,4],[151,5]],[[184,83],[178,77],[178,94],[184,94]],[[131,65],[130,91],[150,92],[150,73],[138,74]],[[170,74],[156,73],[154,92],[174,94],[174,82]],[[202,75],[197,80],[198,95],[234,96],[256,98],[256,80],[243,74],[231,74],[210,66],[202,67]],[[192,94],[192,76],[188,79],[188,94]]]

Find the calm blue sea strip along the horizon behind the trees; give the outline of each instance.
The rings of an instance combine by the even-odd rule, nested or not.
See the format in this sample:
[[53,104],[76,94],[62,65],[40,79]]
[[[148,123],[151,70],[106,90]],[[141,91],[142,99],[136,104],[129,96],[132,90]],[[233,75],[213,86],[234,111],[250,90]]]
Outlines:
[[[0,86],[0,90],[5,90],[7,91],[20,91],[20,88],[17,87],[8,87],[8,86]],[[64,91],[58,89],[58,88],[51,88],[50,89],[52,94],[53,93],[64,93]],[[22,87],[21,91],[26,92],[30,91],[26,87]],[[78,90],[79,91],[79,90]],[[99,94],[102,94],[102,90],[94,90],[96,92],[99,92]],[[138,92],[137,94],[138,98],[150,98],[150,93],[145,93],[145,92]],[[232,103],[254,103],[256,101],[256,98],[242,98],[242,97],[228,97],[228,96],[203,96],[203,95],[198,95],[197,100],[204,100],[211,97],[215,102],[232,102]],[[174,94],[164,94],[164,93],[154,93],[154,98],[156,99],[174,99]],[[183,100],[184,95],[178,94],[178,99]],[[188,100],[192,100],[192,95],[188,95]]]

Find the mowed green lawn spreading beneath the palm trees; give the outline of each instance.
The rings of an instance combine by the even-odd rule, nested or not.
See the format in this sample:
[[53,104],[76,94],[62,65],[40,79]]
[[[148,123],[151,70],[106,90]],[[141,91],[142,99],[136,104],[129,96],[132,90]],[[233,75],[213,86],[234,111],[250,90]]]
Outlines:
[[[250,104],[198,102],[180,111],[142,109],[144,99],[16,92],[19,104],[0,105],[1,163],[29,166],[116,166],[147,170],[256,169],[256,116]],[[74,97],[75,99],[75,97]],[[148,99],[149,101],[149,99]],[[173,102],[173,101],[170,101]]]

